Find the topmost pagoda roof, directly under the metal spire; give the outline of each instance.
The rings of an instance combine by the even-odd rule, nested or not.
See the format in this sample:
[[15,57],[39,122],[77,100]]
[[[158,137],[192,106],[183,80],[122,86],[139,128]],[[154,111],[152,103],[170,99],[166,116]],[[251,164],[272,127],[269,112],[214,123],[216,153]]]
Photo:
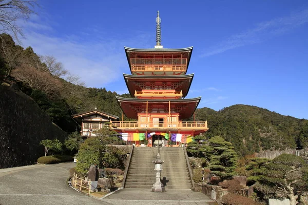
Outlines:
[[[129,65],[129,69],[131,69],[130,63],[129,63],[130,62],[129,61],[129,52],[131,52],[131,53],[144,53],[144,54],[152,54],[152,53],[156,53],[156,54],[169,53],[169,54],[172,54],[172,53],[190,52],[190,55],[188,55],[188,58],[187,58],[187,69],[188,69],[189,61],[190,61],[190,57],[191,57],[191,53],[192,53],[193,48],[194,48],[193,46],[187,47],[187,48],[129,48],[129,47],[124,46],[125,54],[126,54],[128,65]],[[186,72],[187,72],[187,69],[186,69]]]

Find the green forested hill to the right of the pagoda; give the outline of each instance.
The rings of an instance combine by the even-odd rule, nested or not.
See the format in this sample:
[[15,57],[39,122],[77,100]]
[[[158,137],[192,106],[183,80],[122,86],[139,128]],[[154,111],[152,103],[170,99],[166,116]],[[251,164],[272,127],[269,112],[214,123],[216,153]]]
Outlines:
[[234,105],[219,111],[201,108],[196,110],[195,120],[207,120],[209,130],[204,134],[222,136],[243,156],[261,150],[308,146],[308,120],[256,106]]

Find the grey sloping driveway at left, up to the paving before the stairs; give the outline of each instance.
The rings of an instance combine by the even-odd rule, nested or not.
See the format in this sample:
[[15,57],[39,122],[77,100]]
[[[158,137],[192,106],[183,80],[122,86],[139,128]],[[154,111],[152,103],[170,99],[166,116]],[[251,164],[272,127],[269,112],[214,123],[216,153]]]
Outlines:
[[3,174],[0,177],[1,205],[107,204],[68,187],[66,183],[68,171],[75,166],[74,163],[35,166],[1,170]]

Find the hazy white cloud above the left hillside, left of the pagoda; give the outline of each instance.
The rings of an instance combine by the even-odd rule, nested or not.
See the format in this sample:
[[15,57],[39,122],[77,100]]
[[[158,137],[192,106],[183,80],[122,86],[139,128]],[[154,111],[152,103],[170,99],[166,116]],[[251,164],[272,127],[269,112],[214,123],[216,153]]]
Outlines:
[[26,36],[22,40],[23,46],[31,46],[39,55],[55,56],[72,74],[79,75],[87,87],[104,87],[122,77],[123,71],[129,72],[124,46],[142,47],[152,37],[140,33],[133,38],[124,34],[118,39],[104,38],[102,32],[90,32],[90,28],[80,34],[58,33],[56,36],[52,24],[42,21],[35,18],[35,22],[32,20],[23,25]]

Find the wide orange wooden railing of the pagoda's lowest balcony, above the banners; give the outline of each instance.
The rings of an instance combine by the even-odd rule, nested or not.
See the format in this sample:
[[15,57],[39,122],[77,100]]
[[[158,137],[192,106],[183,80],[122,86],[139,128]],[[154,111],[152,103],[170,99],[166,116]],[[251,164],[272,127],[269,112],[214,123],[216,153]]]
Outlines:
[[139,121],[112,121],[112,127],[119,129],[182,129],[207,130],[207,121],[185,122],[139,122]]

